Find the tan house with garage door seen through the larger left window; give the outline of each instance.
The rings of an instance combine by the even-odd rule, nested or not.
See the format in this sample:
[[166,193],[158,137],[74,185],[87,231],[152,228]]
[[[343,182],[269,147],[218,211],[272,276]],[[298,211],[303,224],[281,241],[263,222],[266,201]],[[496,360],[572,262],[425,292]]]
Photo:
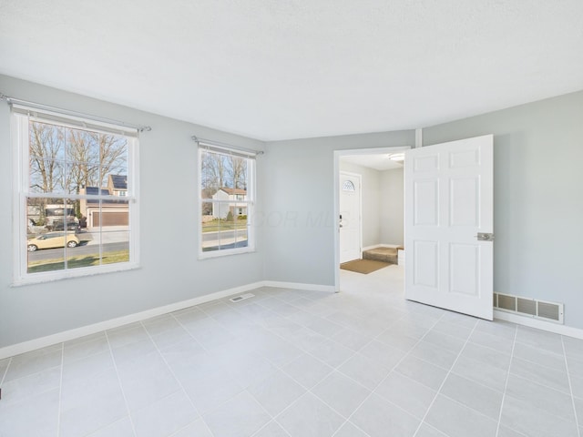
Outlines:
[[[97,195],[97,187],[81,188],[80,194]],[[107,188],[101,188],[101,193],[106,196],[118,198],[126,197],[128,193],[128,178],[125,175],[109,175],[107,178]],[[107,199],[101,202],[98,200],[81,199],[81,214],[87,218],[87,229],[99,227],[122,227],[127,228],[129,224],[128,201],[124,199]],[[101,211],[101,214],[99,214]]]

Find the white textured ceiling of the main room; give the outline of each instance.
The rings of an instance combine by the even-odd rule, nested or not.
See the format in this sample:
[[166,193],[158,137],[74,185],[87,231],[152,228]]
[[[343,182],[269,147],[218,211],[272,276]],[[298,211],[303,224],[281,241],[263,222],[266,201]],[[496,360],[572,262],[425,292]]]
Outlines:
[[2,0],[0,73],[262,140],[410,129],[583,89],[583,1]]

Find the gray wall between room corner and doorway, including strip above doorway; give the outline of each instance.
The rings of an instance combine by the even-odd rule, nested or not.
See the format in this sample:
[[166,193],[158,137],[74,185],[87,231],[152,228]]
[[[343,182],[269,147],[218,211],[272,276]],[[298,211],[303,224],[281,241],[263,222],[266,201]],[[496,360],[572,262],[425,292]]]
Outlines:
[[266,279],[333,285],[334,150],[412,145],[412,130],[267,143]]

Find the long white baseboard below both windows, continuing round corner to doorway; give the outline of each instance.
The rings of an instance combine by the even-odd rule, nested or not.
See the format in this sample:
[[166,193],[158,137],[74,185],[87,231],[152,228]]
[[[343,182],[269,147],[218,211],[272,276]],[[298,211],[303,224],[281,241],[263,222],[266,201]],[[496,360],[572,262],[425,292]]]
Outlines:
[[194,305],[200,305],[201,303],[210,302],[211,300],[223,299],[234,294],[244,293],[250,290],[259,289],[261,287],[277,287],[285,289],[314,290],[314,291],[334,291],[333,286],[327,285],[311,285],[311,284],[299,284],[294,282],[278,282],[272,280],[262,280],[258,282],[253,282],[251,284],[242,285],[240,287],[234,287],[229,290],[221,290],[214,293],[206,294],[204,296],[199,296],[197,298],[170,303],[169,305],[153,308],[151,310],[145,310],[136,312],[134,314],[128,314],[127,316],[118,317],[116,319],[100,321],[97,323],[93,323],[91,325],[75,328],[73,330],[64,330],[62,332],[47,335],[46,337],[40,337],[35,340],[28,340],[10,346],[5,346],[4,348],[0,348],[0,360],[3,360],[8,357],[13,357],[15,355],[19,355],[21,353],[46,348],[46,346],[52,346],[54,344],[62,343],[63,341],[75,340],[80,337],[85,337],[87,335],[101,332],[102,330],[112,330],[123,325],[128,325],[129,323],[147,320],[151,317],[161,316],[162,314],[168,314],[169,312],[173,311],[184,310],[185,308],[189,308]]

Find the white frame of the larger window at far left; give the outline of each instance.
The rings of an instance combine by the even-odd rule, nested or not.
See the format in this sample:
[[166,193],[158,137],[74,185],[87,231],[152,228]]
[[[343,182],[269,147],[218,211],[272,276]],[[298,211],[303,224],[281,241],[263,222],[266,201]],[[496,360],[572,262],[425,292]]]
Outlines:
[[[50,111],[39,111],[31,108],[26,113],[26,107],[13,106],[11,114],[11,132],[13,147],[13,285],[20,286],[26,284],[42,283],[47,281],[78,278],[100,273],[122,271],[139,268],[139,174],[138,174],[138,130],[128,127],[120,127],[101,123],[93,119],[83,117],[68,116],[64,114],[53,113]],[[32,115],[31,115],[32,114]],[[34,117],[33,117],[34,115]],[[124,200],[128,201],[129,208],[129,261],[112,264],[103,264],[99,266],[82,267],[75,269],[52,270],[46,272],[28,273],[27,260],[27,208],[26,198],[95,198],[95,196],[73,195],[73,194],[55,194],[47,193],[46,195],[33,193],[29,191],[29,120],[46,121],[63,127],[81,128],[84,130],[95,131],[99,133],[117,133],[127,138],[128,141],[128,196]],[[57,120],[57,121],[55,121]],[[114,196],[100,196],[100,198],[115,198]],[[101,247],[99,248],[101,252]]]

